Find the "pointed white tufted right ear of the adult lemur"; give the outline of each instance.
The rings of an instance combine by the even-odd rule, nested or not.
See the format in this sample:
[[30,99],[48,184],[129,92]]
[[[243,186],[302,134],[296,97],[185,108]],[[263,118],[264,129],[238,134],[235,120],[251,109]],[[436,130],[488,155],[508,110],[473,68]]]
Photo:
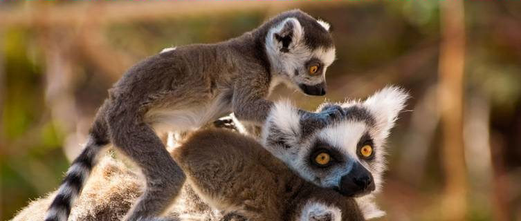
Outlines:
[[405,90],[390,86],[374,93],[363,102],[363,105],[376,120],[375,126],[378,131],[381,131],[383,137],[387,137],[408,98],[409,95]]

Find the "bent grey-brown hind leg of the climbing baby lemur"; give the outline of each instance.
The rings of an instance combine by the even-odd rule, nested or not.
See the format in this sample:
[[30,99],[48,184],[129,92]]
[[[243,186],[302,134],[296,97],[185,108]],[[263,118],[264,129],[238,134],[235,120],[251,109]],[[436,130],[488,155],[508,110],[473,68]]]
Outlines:
[[185,175],[154,130],[140,116],[125,113],[132,112],[112,110],[107,115],[111,138],[120,151],[138,164],[146,178],[146,189],[125,220],[163,220],[158,215],[181,191]]

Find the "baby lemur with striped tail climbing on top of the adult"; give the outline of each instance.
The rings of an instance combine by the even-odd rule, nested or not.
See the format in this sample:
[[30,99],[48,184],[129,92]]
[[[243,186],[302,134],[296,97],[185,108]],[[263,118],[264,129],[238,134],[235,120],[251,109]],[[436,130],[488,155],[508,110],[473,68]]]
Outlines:
[[[136,162],[147,181],[125,220],[158,220],[185,176],[157,134],[198,128],[231,112],[263,124],[273,106],[266,96],[280,82],[307,95],[325,95],[325,72],[335,58],[328,28],[291,10],[240,37],[171,48],[131,67],[109,90],[46,221],[67,220],[96,157],[108,144]],[[305,119],[324,124],[339,113],[307,113]]]

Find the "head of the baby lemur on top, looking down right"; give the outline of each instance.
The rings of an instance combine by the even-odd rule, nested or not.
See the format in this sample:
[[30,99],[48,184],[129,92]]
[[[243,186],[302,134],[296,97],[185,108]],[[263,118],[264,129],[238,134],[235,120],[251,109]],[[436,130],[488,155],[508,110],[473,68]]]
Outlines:
[[275,80],[307,95],[325,95],[325,73],[335,59],[329,23],[291,10],[264,27],[266,54]]

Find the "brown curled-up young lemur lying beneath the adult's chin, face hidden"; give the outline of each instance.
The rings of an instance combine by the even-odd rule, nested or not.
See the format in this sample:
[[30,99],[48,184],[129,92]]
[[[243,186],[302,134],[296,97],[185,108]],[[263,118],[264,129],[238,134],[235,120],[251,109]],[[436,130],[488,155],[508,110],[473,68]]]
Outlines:
[[352,198],[303,180],[253,138],[198,131],[172,155],[205,202],[247,220],[363,220]]

